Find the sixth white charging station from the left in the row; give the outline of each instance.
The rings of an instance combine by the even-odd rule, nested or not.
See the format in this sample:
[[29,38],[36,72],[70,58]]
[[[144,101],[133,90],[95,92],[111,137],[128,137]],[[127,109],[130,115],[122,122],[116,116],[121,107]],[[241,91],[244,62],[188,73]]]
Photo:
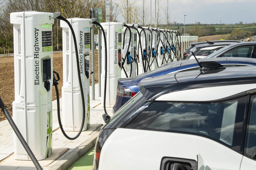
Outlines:
[[[160,30],[160,28],[153,28],[155,30]],[[158,63],[158,46],[160,44],[159,36],[155,31],[152,31],[152,56],[150,57],[150,68],[151,70],[155,70],[159,67]]]

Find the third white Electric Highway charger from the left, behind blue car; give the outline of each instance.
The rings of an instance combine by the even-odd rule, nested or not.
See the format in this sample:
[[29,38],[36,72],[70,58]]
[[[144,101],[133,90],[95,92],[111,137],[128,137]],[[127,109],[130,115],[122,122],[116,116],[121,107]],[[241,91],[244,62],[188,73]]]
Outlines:
[[[122,29],[123,23],[118,22],[104,22],[101,23],[104,29],[107,47],[102,43],[102,63],[105,62],[105,48],[107,48],[107,68],[102,64],[101,73],[101,91],[104,91],[104,80],[107,79],[106,86],[106,107],[113,107],[117,96],[117,80],[121,78],[121,56],[122,56]],[[102,42],[104,42],[102,36]],[[107,69],[107,77],[104,71]],[[104,97],[101,96],[101,105],[103,107]]]

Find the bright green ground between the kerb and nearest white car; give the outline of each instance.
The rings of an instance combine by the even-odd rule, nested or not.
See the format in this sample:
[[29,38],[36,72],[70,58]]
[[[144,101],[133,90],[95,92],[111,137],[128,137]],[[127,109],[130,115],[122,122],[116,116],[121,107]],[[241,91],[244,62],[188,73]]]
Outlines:
[[77,160],[68,170],[92,170],[94,148]]

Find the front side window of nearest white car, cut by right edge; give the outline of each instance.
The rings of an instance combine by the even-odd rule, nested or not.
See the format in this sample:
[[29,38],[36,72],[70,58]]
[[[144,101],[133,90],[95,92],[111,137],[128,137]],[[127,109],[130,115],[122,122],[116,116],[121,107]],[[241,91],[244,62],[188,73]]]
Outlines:
[[251,100],[244,154],[249,158],[256,159],[256,95],[252,96]]

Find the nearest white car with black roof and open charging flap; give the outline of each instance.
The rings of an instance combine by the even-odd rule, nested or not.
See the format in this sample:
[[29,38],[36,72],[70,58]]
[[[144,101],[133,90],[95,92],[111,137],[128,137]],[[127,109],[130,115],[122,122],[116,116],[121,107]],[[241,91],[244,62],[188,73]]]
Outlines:
[[96,170],[256,167],[256,66],[143,79],[96,141]]

